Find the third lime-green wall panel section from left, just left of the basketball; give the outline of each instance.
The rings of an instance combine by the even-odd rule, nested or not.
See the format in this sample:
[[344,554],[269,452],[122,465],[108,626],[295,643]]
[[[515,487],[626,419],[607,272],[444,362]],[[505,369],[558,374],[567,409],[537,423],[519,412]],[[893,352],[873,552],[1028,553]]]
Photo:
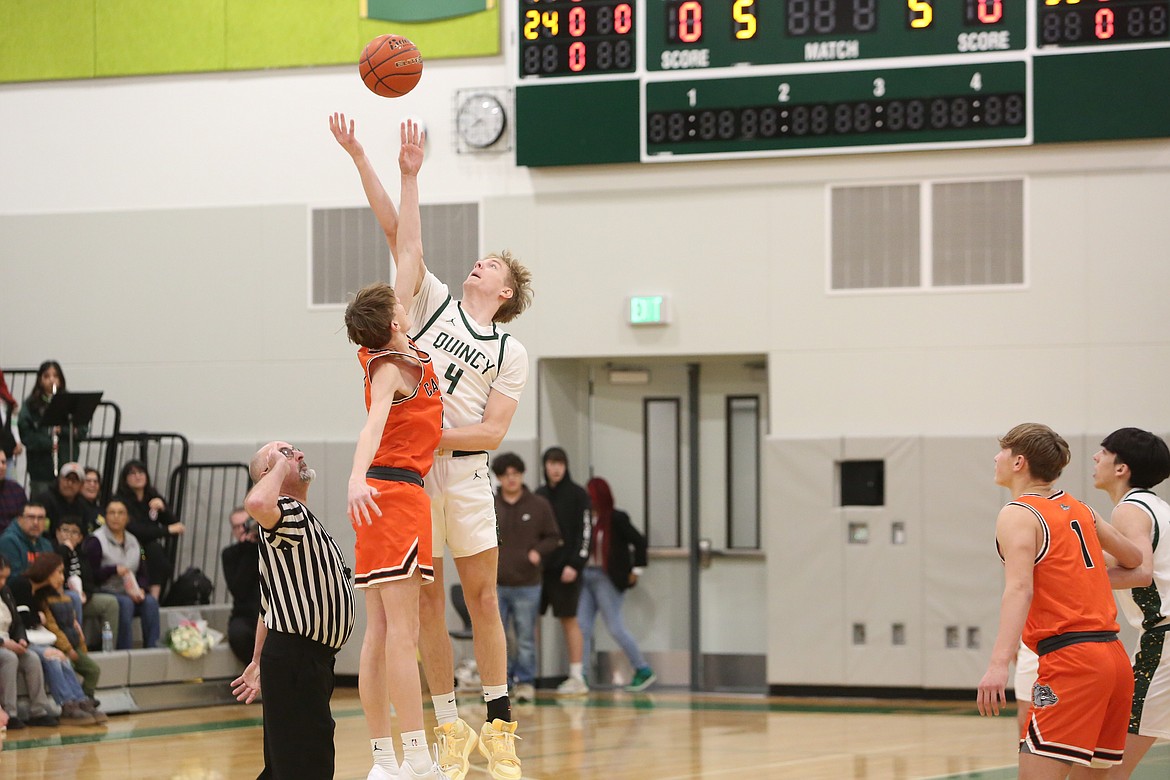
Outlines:
[[228,70],[357,63],[357,0],[226,0]]

